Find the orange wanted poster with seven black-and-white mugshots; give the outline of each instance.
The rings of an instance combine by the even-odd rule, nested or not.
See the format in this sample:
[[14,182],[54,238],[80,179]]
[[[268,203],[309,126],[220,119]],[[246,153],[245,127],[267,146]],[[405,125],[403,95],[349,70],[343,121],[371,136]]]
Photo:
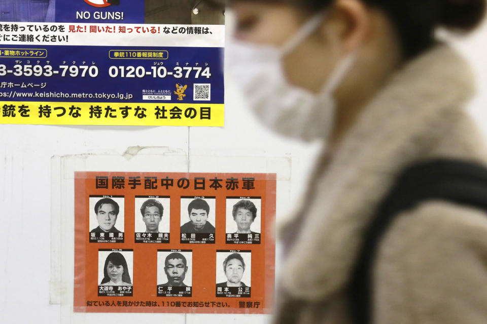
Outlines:
[[77,172],[77,312],[268,313],[275,174]]

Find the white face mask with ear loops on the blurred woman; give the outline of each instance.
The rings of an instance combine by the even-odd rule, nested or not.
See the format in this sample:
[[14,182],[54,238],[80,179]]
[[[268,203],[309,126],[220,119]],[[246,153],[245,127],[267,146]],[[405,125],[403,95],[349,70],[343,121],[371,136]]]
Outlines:
[[333,93],[355,62],[353,54],[343,58],[318,94],[288,83],[282,58],[314,32],[323,18],[324,14],[312,17],[281,48],[235,41],[228,47],[235,80],[262,123],[305,141],[330,135],[336,108]]

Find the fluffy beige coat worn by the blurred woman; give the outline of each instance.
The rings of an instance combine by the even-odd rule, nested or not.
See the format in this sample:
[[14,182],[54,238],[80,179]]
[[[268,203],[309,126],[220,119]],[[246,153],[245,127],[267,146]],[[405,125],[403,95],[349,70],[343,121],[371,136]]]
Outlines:
[[[335,151],[321,157],[309,198],[282,232],[293,244],[276,323],[349,322],[345,287],[361,233],[406,166],[435,157],[485,165],[482,138],[464,109],[472,78],[454,50],[436,46],[395,73]],[[395,218],[377,253],[375,324],[487,323],[483,211],[427,201]]]

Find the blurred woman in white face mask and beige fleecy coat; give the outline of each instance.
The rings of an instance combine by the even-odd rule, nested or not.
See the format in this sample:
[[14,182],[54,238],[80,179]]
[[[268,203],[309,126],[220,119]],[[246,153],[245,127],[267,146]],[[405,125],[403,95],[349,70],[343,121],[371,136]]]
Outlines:
[[[349,323],[364,233],[398,176],[422,161],[487,161],[463,109],[472,73],[435,38],[437,27],[473,29],[484,1],[231,4],[229,66],[251,108],[276,132],[324,142],[305,201],[282,234],[275,322]],[[373,309],[354,322],[487,322],[483,210],[448,199],[409,206],[375,255]]]

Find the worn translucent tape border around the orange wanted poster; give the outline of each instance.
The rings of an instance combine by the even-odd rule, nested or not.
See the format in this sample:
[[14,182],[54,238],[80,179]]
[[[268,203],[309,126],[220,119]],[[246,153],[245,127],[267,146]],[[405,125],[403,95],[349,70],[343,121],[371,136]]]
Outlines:
[[[146,154],[150,152],[150,154]],[[151,155],[151,159],[147,159]],[[144,163],[141,163],[143,158]],[[243,160],[253,161],[249,165]],[[191,164],[190,164],[191,161]],[[213,163],[212,163],[213,162]],[[191,170],[189,166],[191,165]],[[246,165],[246,167],[242,167]],[[224,167],[225,166],[225,167]],[[242,157],[223,155],[188,155],[178,149],[145,147],[129,148],[123,155],[85,154],[71,156],[53,156],[51,161],[51,280],[50,303],[61,306],[62,322],[85,322],[85,316],[103,316],[106,313],[74,313],[74,172],[75,171],[137,171],[154,172],[220,172],[220,173],[276,173],[276,213],[280,202],[290,199],[291,159],[288,155],[262,157]],[[218,168],[218,171],[214,168]],[[68,217],[71,216],[71,217]],[[60,233],[66,233],[60,235]],[[277,264],[276,264],[277,265]],[[273,283],[267,289],[273,289]],[[133,315],[141,313],[110,313],[111,316],[123,314],[117,318],[128,323],[135,319]],[[145,313],[153,314],[153,313]],[[160,313],[158,313],[160,314]],[[167,320],[177,320],[185,314],[164,314]],[[172,315],[169,317],[169,315]],[[192,314],[186,314],[191,316]],[[215,315],[215,314],[214,314]],[[224,314],[216,314],[224,315]],[[248,314],[246,316],[249,316]],[[256,314],[254,316],[265,316]],[[111,317],[112,318],[112,317]],[[149,318],[149,317],[148,317]],[[140,320],[140,317],[137,317]]]

